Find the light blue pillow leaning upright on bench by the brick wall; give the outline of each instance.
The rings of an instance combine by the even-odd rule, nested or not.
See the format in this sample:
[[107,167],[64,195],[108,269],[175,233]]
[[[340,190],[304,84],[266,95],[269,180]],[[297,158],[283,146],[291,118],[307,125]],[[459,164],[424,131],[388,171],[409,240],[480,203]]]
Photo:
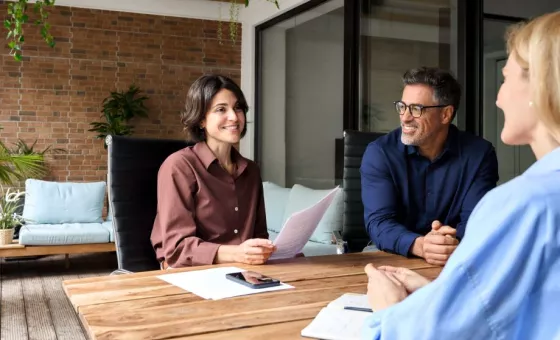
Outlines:
[[28,224],[101,223],[105,182],[25,181]]

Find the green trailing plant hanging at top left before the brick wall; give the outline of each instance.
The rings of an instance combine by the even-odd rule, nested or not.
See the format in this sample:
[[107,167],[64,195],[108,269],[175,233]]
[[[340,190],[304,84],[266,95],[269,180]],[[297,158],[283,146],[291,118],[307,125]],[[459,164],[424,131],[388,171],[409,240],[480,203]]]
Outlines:
[[[29,11],[27,9],[30,0],[17,0],[8,4],[8,18],[4,20],[4,27],[8,30],[8,47],[10,55],[15,60],[22,60],[22,47],[25,43],[23,35],[23,25],[29,21]],[[33,12],[37,16],[34,23],[41,27],[41,36],[50,47],[54,47],[55,41],[50,34],[51,25],[47,22],[49,18],[48,7],[54,6],[56,0],[36,0],[32,4]]]

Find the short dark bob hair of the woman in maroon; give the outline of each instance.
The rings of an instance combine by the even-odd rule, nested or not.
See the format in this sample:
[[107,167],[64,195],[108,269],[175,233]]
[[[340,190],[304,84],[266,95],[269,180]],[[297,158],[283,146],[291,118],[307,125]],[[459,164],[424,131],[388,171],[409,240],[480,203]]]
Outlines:
[[238,107],[243,110],[245,125],[243,126],[241,137],[245,136],[247,132],[246,116],[249,106],[243,91],[232,79],[226,76],[207,74],[195,80],[191,85],[187,93],[185,111],[181,113],[181,123],[190,141],[201,142],[206,139],[204,129],[201,129],[200,124],[206,118],[206,113],[212,104],[212,99],[222,89],[233,92],[237,98]]

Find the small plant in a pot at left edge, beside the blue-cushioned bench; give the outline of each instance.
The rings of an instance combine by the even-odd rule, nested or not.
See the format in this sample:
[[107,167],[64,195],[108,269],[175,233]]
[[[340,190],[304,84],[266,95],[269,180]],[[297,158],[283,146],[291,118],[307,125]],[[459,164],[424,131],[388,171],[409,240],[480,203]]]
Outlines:
[[0,197],[0,245],[11,244],[14,229],[23,223],[23,217],[17,212],[20,207],[20,197],[24,191],[10,191]]

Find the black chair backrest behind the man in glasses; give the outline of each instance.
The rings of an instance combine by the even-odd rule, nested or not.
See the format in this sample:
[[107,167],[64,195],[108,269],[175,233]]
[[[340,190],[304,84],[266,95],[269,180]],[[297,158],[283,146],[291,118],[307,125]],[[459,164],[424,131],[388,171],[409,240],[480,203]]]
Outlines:
[[368,144],[383,135],[375,132],[344,131],[342,238],[347,242],[349,252],[362,251],[370,241],[364,224],[360,165]]

